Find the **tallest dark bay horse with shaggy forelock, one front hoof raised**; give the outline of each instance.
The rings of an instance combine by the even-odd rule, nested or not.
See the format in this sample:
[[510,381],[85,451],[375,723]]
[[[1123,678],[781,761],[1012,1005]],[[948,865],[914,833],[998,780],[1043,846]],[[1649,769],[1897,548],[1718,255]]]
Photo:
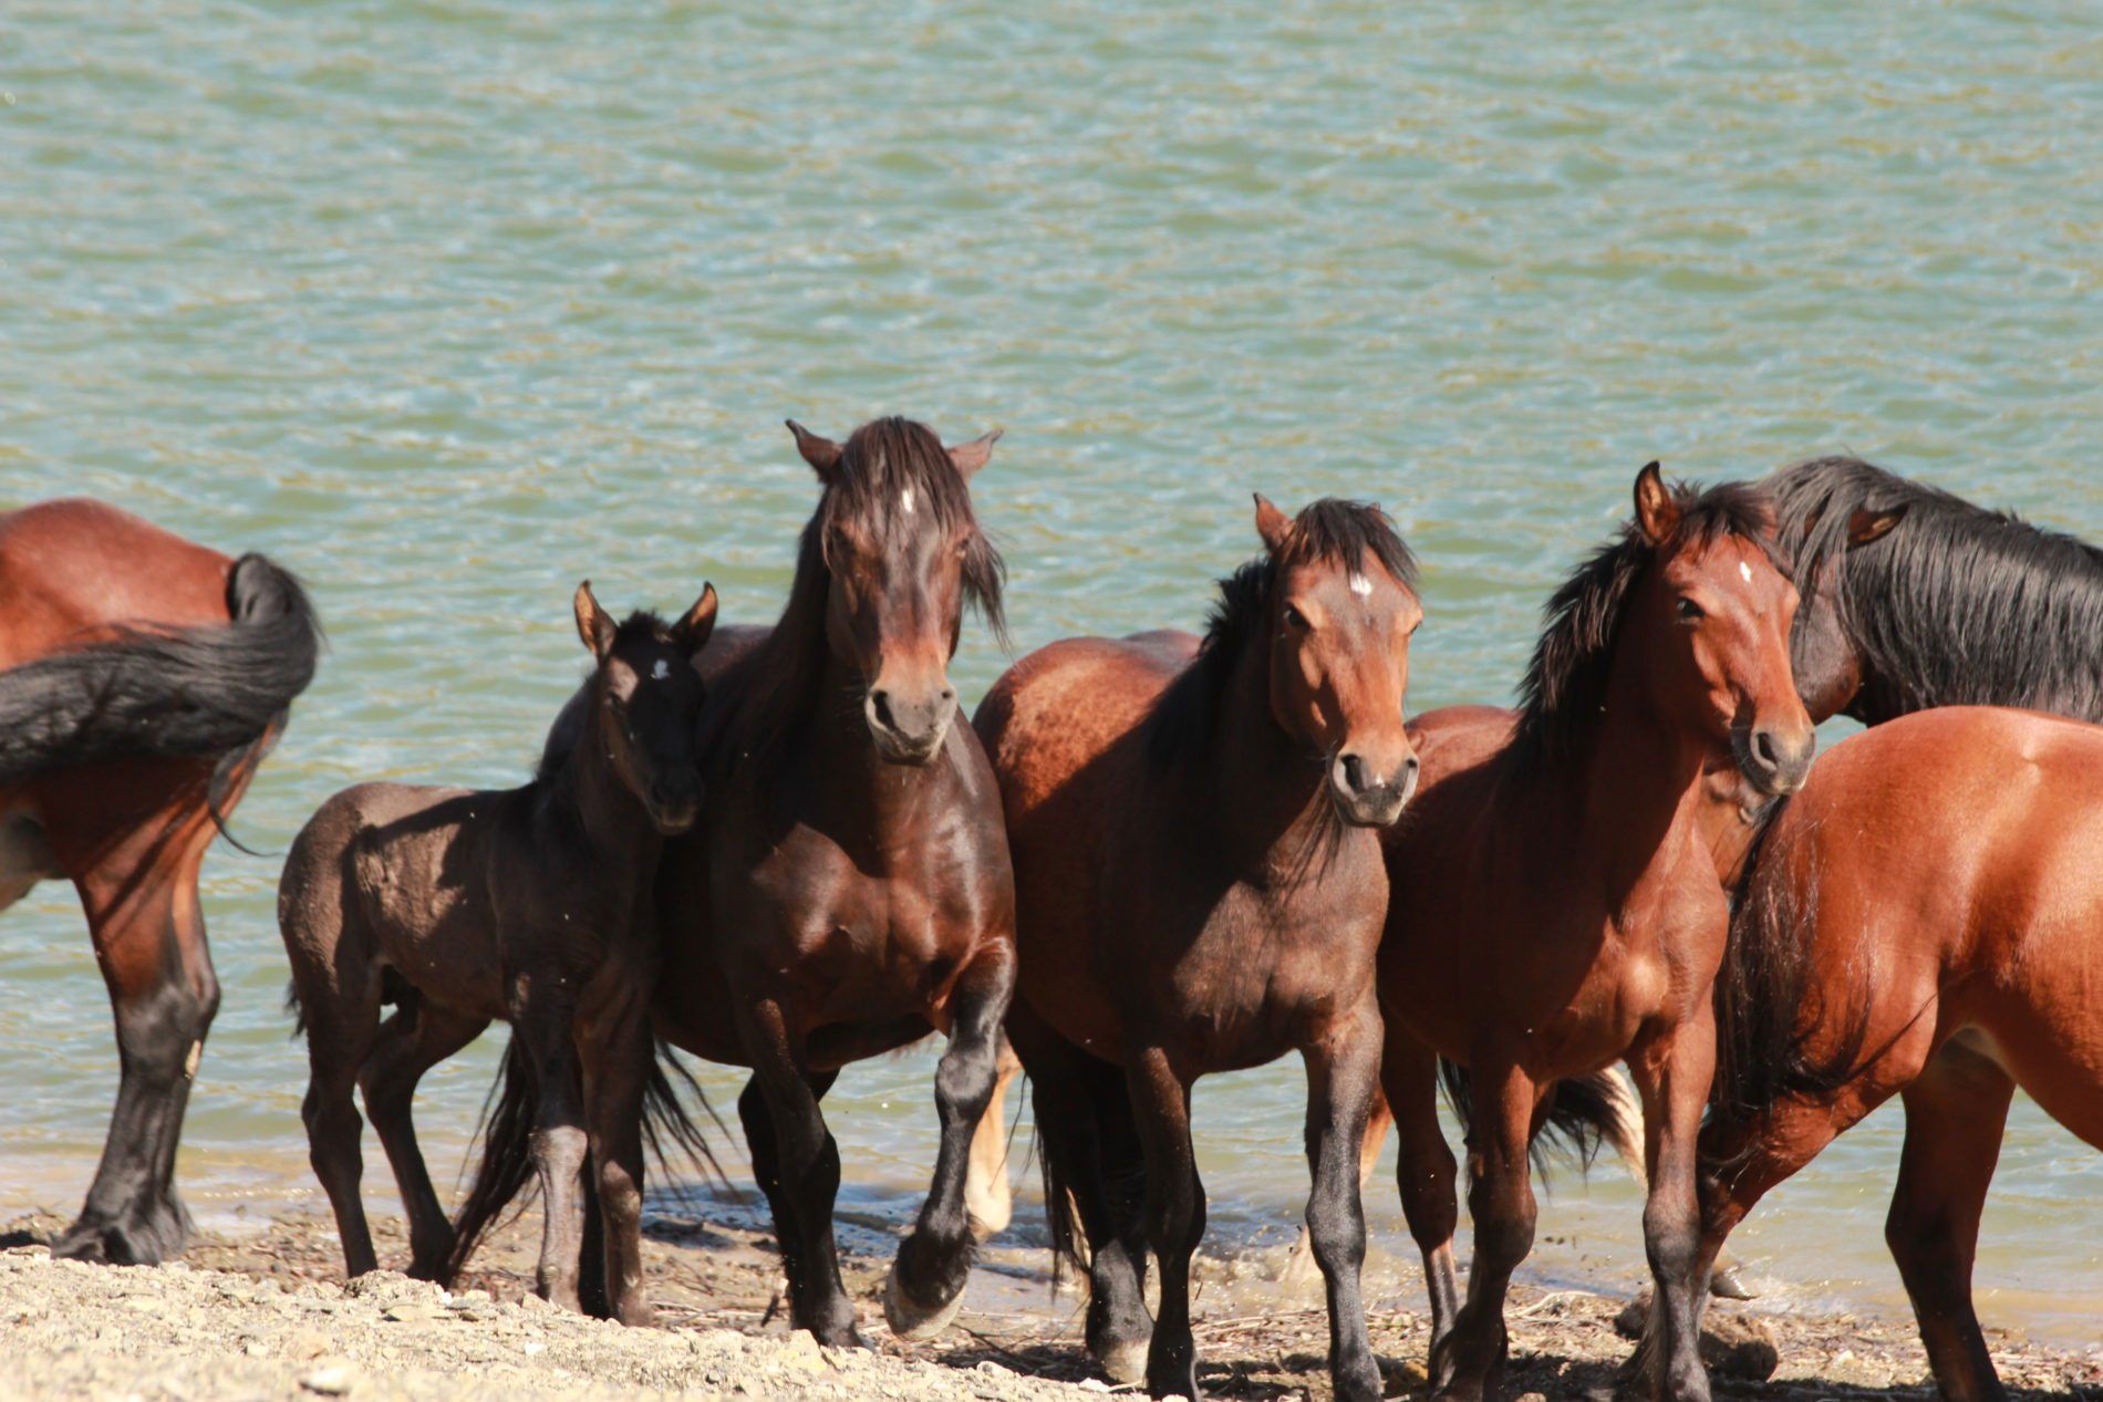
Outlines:
[[[1014,990],[1016,898],[948,660],[967,601],[1001,624],[1001,561],[967,486],[997,435],[944,448],[879,418],[835,444],[789,427],[824,490],[780,622],[723,628],[700,658],[707,807],[660,864],[656,1026],[753,1068],[738,1112],[791,1316],[831,1345],[858,1339],[833,1244],[839,1148],[818,1110],[841,1066],[948,1036],[942,1143],[892,1267],[892,1328],[942,1328],[974,1257],[963,1177]],[[503,1095],[530,1087],[507,1076]],[[463,1232],[498,1198],[477,1190]]]

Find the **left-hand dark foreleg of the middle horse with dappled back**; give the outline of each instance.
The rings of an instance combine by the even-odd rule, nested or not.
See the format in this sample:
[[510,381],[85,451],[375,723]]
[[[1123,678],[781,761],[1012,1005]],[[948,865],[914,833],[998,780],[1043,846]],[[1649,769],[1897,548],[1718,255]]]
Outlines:
[[1146,1146],[1146,1230],[1161,1263],[1161,1310],[1146,1349],[1146,1391],[1199,1402],[1190,1257],[1205,1236],[1205,1185],[1190,1150],[1190,1083],[1163,1049],[1146,1047],[1127,1061],[1125,1085]]

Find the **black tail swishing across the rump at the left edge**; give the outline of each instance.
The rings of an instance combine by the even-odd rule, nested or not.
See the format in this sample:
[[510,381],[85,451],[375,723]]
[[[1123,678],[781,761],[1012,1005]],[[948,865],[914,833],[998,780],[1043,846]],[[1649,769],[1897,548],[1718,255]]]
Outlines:
[[219,757],[219,803],[254,746],[313,681],[322,626],[263,555],[227,574],[227,626],[130,626],[0,673],[0,784],[114,759]]

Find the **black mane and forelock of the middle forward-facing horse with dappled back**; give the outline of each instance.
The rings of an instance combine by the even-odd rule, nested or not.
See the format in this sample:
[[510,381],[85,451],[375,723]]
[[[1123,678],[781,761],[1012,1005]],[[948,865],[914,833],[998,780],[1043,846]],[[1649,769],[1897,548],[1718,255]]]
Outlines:
[[1220,698],[1243,647],[1264,626],[1270,586],[1281,570],[1316,561],[1348,568],[1367,555],[1415,593],[1417,559],[1388,513],[1373,502],[1325,496],[1293,519],[1293,534],[1281,555],[1260,555],[1220,580],[1220,597],[1205,618],[1205,641],[1199,643],[1197,658],[1169,681],[1148,713],[1146,752],[1152,763],[1171,769],[1182,755],[1199,755],[1211,742]]

